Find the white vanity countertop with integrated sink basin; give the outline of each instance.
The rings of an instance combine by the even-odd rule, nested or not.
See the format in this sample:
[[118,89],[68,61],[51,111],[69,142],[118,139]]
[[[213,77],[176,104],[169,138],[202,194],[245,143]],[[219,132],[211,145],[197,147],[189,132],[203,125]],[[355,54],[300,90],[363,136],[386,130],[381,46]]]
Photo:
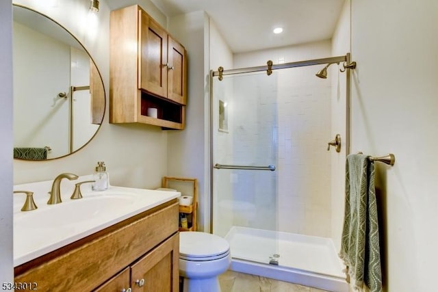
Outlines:
[[61,248],[96,233],[133,215],[168,202],[181,194],[174,191],[133,189],[110,186],[106,191],[91,191],[81,186],[83,198],[70,200],[76,181],[61,183],[62,203],[47,204],[52,181],[15,185],[14,190],[34,191],[38,209],[20,211],[25,195],[14,195],[14,266]]

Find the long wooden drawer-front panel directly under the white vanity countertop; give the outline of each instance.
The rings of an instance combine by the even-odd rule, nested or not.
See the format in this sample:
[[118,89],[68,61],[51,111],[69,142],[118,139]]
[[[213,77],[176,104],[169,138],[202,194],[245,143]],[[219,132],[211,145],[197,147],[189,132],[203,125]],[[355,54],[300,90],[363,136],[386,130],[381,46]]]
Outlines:
[[41,291],[91,291],[178,231],[172,200],[15,268]]

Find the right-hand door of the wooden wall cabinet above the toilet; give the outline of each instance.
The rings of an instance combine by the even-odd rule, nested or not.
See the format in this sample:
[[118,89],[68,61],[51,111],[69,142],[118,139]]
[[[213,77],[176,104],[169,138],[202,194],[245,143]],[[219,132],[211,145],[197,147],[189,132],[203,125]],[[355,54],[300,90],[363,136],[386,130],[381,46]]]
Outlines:
[[184,47],[168,37],[168,98],[185,105],[187,101],[187,60]]

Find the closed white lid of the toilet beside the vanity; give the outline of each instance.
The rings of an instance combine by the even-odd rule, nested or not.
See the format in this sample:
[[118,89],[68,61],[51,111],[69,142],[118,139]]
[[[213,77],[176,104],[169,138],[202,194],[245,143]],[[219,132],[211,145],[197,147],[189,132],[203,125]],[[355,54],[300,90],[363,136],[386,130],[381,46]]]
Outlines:
[[186,231],[179,233],[179,254],[184,258],[218,258],[229,253],[227,240],[210,233]]

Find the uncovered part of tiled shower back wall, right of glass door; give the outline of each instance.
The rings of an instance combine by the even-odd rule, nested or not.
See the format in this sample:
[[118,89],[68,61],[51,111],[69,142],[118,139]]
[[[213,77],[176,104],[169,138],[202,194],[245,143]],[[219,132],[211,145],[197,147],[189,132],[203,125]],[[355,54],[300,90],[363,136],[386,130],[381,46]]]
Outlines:
[[278,230],[329,237],[331,86],[319,67],[279,71]]

